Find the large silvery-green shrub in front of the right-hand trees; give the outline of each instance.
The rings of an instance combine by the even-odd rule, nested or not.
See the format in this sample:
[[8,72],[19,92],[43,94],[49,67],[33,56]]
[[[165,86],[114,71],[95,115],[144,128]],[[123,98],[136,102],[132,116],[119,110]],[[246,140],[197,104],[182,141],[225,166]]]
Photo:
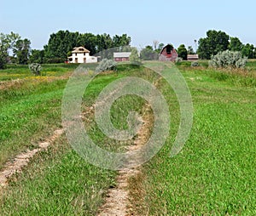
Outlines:
[[247,58],[242,58],[241,52],[226,50],[212,57],[209,65],[213,67],[244,68]]

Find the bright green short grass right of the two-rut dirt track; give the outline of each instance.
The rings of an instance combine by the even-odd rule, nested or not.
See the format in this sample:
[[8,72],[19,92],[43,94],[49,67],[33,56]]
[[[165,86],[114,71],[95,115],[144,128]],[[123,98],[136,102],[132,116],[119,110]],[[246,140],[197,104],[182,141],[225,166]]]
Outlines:
[[[219,79],[213,74],[219,71],[182,72],[194,101],[193,128],[179,155],[170,157],[172,131],[165,147],[143,166],[143,178],[131,179],[143,187],[143,196],[136,194],[137,214],[254,215],[255,82],[247,84],[242,74]],[[178,107],[171,112],[177,125]]]

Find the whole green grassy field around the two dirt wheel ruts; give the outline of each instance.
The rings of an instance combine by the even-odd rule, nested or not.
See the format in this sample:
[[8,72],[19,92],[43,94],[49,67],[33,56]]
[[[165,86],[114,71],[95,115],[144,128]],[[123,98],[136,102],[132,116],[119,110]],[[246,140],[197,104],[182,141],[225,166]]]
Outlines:
[[[61,128],[61,99],[68,77],[78,65],[43,65],[33,77],[27,66],[0,71],[0,168],[18,153],[34,149]],[[90,65],[94,69],[96,65]],[[129,179],[134,215],[256,214],[256,62],[247,71],[213,70],[177,65],[188,83],[194,122],[186,145],[170,157],[179,125],[179,106],[172,88],[160,80],[172,123],[162,150]],[[83,100],[83,111],[95,103],[108,83],[121,77],[159,77],[138,67],[118,66],[97,76]],[[145,101],[125,96],[112,107],[112,121],[126,128],[129,111],[143,112]],[[84,121],[92,139],[108,150],[125,151],[130,142],[104,137],[92,116]],[[65,134],[40,152],[22,173],[0,190],[1,215],[95,215],[117,172],[96,168],[80,158]]]

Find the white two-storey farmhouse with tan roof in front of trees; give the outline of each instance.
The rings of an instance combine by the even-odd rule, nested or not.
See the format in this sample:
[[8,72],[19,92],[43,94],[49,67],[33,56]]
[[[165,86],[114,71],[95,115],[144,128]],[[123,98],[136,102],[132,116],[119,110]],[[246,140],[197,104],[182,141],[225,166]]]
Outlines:
[[72,56],[68,57],[69,63],[96,63],[97,57],[90,56],[90,51],[84,47],[73,48]]

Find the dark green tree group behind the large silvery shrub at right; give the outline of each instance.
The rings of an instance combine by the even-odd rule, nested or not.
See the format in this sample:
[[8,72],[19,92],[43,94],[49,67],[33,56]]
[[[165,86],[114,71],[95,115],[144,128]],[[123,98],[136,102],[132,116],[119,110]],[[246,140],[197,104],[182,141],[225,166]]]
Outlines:
[[248,59],[256,58],[256,48],[253,44],[243,44],[238,37],[230,37],[224,31],[207,31],[207,37],[199,40],[197,53],[201,59],[210,60],[213,55],[216,55],[225,50],[239,51],[242,57]]

